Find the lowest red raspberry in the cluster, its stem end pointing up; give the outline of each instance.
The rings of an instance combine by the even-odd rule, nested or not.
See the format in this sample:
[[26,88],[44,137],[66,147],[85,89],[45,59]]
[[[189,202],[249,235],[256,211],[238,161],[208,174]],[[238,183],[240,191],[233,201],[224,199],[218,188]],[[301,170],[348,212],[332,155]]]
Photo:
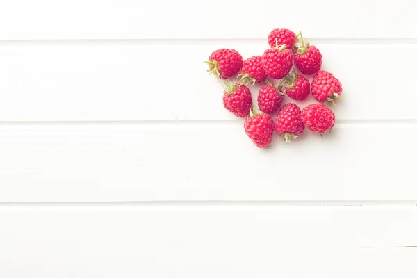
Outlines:
[[258,147],[267,147],[272,140],[274,132],[274,121],[268,114],[254,114],[245,120],[243,124],[247,136],[252,139]]

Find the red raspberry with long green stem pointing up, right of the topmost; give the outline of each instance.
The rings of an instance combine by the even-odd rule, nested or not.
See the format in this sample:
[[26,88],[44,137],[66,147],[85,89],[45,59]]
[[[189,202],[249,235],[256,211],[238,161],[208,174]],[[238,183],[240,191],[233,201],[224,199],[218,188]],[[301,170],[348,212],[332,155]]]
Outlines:
[[297,67],[302,74],[313,74],[318,72],[322,64],[322,54],[317,47],[310,45],[309,42],[304,42],[301,32],[301,45],[295,50],[295,67]]

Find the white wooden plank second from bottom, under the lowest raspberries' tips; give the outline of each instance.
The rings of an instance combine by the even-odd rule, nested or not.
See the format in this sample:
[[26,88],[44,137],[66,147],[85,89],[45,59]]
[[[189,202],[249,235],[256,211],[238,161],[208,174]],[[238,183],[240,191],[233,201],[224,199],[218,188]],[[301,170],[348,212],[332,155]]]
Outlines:
[[416,124],[258,149],[241,122],[0,126],[0,202],[417,199]]

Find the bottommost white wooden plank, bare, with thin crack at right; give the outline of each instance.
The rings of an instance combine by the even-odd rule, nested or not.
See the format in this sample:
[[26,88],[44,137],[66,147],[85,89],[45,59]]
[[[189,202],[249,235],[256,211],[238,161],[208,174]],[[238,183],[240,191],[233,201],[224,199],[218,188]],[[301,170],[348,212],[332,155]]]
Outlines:
[[413,207],[1,208],[1,277],[414,277]]

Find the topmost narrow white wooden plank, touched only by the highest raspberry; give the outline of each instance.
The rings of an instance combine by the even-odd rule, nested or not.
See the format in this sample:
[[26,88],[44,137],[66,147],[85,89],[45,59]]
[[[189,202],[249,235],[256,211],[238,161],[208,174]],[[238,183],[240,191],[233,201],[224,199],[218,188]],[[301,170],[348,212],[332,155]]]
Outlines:
[[417,38],[412,0],[15,0],[0,3],[1,40],[266,38],[272,28],[311,38]]

